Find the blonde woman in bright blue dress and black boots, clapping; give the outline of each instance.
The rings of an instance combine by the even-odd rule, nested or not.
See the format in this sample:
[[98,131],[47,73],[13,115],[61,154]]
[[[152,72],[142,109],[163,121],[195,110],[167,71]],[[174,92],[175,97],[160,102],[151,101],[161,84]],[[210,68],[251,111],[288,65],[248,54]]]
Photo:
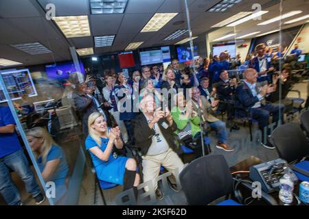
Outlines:
[[[88,119],[89,136],[85,141],[99,180],[123,185],[124,190],[133,188],[137,198],[139,175],[135,159],[117,155],[124,142],[119,127],[108,129],[104,117],[94,112]],[[115,147],[115,148],[114,148]]]

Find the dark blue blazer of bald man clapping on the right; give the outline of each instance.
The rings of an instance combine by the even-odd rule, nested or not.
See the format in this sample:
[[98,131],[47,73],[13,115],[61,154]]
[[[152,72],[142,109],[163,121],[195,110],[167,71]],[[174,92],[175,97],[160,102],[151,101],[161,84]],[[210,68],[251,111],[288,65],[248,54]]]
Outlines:
[[238,117],[247,116],[251,107],[259,101],[258,96],[253,96],[250,88],[242,82],[236,88],[236,114]]

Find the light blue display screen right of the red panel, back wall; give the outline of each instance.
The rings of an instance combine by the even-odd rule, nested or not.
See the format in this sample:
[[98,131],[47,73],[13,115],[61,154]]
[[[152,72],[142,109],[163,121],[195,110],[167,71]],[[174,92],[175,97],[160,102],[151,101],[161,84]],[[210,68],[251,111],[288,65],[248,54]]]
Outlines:
[[141,65],[157,64],[170,62],[170,47],[161,47],[161,49],[139,52]]

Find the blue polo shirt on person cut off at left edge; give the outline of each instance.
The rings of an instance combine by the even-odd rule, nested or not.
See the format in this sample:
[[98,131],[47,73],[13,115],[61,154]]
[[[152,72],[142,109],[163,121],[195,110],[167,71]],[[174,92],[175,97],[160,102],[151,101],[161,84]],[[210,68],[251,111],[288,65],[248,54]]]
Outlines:
[[[11,124],[15,125],[15,120],[10,107],[0,107],[0,127]],[[0,158],[21,150],[16,131],[14,133],[0,133],[0,142]]]

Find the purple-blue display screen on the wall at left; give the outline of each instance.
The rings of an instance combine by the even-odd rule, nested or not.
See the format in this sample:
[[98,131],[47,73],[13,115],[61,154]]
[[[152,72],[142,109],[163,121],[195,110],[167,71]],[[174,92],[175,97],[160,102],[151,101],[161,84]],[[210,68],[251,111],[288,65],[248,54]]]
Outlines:
[[[60,62],[45,66],[46,75],[52,79],[68,79],[71,73],[78,71],[73,62]],[[80,62],[80,71],[85,75],[84,65]]]

